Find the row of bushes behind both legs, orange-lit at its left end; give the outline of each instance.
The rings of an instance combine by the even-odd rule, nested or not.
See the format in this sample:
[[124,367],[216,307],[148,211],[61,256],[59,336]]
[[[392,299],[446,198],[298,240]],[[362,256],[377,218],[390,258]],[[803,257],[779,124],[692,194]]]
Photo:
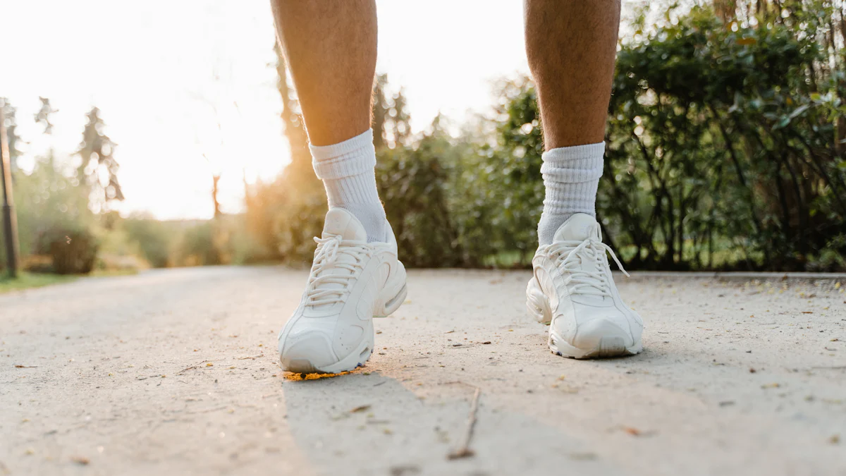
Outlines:
[[[669,8],[649,26],[641,15],[621,44],[597,196],[606,241],[627,268],[844,269],[846,70],[832,5],[721,5]],[[440,118],[404,135],[401,91],[389,95],[384,75],[374,89],[377,181],[404,262],[528,266],[544,196],[530,80],[502,81],[496,115],[458,137]],[[325,212],[313,181],[298,158],[250,197],[250,229],[277,257],[310,258]]]

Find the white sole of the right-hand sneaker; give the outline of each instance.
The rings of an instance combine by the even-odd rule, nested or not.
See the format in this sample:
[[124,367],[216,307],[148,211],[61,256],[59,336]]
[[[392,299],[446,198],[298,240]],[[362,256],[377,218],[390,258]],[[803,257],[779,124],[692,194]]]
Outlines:
[[[535,279],[533,278],[529,280],[529,285],[526,286],[526,310],[537,322],[549,325],[552,323],[552,307],[549,305],[547,296],[534,283]],[[634,346],[626,346],[624,339],[618,335],[602,337],[592,349],[580,349],[571,346],[552,329],[549,329],[547,344],[553,354],[575,359],[625,357],[643,351],[643,340],[634,342]]]

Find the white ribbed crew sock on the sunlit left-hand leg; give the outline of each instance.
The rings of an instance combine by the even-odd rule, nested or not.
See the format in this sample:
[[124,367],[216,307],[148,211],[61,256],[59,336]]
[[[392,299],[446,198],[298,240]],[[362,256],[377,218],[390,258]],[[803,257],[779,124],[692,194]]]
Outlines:
[[385,208],[376,190],[373,130],[331,146],[309,146],[317,178],[323,180],[329,208],[344,208],[359,219],[367,241],[387,241]]

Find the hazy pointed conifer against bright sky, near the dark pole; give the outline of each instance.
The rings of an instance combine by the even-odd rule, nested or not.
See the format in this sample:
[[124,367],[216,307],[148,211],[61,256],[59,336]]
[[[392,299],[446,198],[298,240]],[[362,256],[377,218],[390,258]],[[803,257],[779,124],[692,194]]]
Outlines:
[[106,124],[100,117],[99,108],[91,108],[86,115],[88,122],[76,152],[82,158],[78,174],[91,187],[91,208],[99,213],[109,201],[124,200],[124,192],[118,182],[118,161],[113,157],[118,144],[103,132]]

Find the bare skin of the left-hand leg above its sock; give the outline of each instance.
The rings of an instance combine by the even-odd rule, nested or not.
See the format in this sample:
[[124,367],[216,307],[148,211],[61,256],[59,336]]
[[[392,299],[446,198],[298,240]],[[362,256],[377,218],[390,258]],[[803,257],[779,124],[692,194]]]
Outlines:
[[311,144],[335,144],[370,129],[375,1],[272,0],[271,4]]

